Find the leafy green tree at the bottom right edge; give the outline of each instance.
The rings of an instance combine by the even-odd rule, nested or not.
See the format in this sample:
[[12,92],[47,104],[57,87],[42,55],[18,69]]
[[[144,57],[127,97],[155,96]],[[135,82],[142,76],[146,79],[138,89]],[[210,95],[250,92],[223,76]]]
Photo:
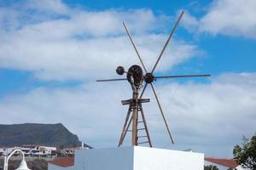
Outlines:
[[241,167],[256,169],[256,133],[251,140],[243,137],[243,143],[233,150],[235,160]]

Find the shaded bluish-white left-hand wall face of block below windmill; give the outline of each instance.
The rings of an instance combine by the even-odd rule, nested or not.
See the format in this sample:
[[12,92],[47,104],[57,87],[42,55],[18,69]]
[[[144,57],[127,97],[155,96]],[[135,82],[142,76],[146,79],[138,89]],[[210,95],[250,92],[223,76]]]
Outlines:
[[73,170],[132,170],[133,148],[76,150]]

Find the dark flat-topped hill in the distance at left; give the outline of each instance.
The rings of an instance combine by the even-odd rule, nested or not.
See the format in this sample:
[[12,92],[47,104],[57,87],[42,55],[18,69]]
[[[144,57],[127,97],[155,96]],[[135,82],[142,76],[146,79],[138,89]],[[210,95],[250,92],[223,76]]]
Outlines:
[[[61,123],[24,123],[0,125],[0,147],[40,144],[57,148],[81,146],[77,135],[71,133]],[[84,147],[89,145],[84,144]]]

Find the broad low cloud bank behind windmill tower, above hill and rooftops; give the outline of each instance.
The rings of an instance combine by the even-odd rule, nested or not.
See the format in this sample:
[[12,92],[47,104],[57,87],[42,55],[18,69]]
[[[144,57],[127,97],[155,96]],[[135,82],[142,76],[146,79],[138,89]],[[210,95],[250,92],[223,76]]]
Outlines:
[[[157,92],[176,145],[167,137],[160,112],[148,88],[144,104],[154,146],[202,151],[207,156],[231,156],[241,136],[255,133],[256,73],[224,74],[209,84],[156,82]],[[131,97],[127,82],[90,83],[74,88],[33,89],[0,100],[0,123],[62,122],[85,143],[115,146]],[[100,105],[100,107],[99,107]],[[128,140],[127,142],[130,142]],[[210,148],[223,148],[211,150]]]

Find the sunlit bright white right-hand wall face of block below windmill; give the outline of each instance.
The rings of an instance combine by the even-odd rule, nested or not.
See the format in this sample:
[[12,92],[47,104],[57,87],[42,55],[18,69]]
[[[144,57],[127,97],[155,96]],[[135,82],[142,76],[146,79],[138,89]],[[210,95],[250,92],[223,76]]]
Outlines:
[[134,170],[203,170],[204,155],[195,152],[134,148]]

